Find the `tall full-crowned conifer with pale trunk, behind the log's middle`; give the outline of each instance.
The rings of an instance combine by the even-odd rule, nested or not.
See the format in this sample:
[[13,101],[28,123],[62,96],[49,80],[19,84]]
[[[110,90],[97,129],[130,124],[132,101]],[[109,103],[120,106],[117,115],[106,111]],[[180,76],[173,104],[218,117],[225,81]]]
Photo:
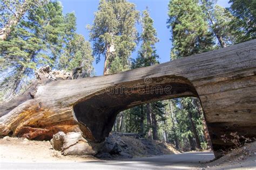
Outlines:
[[[105,57],[104,74],[130,68],[130,55],[136,47],[135,27],[139,12],[125,0],[101,0],[93,25],[88,26],[93,42],[93,55]],[[116,67],[117,70],[111,69]]]

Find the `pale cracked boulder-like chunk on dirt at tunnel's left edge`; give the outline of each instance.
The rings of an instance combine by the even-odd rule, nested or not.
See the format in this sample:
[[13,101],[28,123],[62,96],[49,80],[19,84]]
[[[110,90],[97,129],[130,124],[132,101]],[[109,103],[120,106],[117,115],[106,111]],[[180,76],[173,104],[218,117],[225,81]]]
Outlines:
[[87,143],[80,132],[58,132],[51,139],[52,147],[62,151],[63,155],[94,155],[92,146]]

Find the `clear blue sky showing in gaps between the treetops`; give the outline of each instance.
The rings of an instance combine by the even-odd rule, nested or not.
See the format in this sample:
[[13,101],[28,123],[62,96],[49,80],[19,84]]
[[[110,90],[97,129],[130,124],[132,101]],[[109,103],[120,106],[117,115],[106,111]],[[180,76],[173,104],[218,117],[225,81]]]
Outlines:
[[[182,0],[181,0],[182,1]],[[86,30],[87,24],[92,24],[94,13],[98,8],[98,0],[60,0],[63,5],[63,12],[75,12],[77,17],[77,33],[83,34],[86,40],[89,40],[89,32]],[[166,27],[167,7],[169,0],[129,0],[136,4],[137,10],[143,11],[148,6],[150,15],[154,19],[154,27],[156,27],[158,38],[160,41],[156,44],[157,53],[160,56],[160,62],[170,61],[171,49],[171,33]],[[218,5],[227,7],[229,6],[228,0],[219,0]],[[138,27],[138,29],[140,29]],[[139,48],[139,47],[138,47]],[[138,49],[137,48],[137,49]],[[133,52],[132,57],[136,58],[137,52]],[[96,70],[96,75],[103,74],[104,59],[93,66]]]

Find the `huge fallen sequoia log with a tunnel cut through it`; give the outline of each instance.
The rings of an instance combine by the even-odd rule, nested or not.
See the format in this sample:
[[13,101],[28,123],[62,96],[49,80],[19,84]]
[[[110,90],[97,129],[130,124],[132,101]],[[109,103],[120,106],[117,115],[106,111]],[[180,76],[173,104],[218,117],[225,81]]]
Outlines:
[[48,67],[22,96],[0,105],[0,135],[51,139],[81,132],[93,150],[120,111],[167,98],[199,97],[215,156],[230,148],[221,136],[256,137],[256,40],[113,75],[77,80]]

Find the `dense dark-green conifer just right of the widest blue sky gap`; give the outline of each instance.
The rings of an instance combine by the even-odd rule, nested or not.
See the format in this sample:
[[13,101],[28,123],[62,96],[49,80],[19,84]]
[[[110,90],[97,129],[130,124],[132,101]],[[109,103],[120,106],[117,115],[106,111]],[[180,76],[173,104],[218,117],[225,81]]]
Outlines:
[[172,32],[172,59],[212,49],[212,34],[208,31],[198,1],[171,0],[168,15],[167,23]]

